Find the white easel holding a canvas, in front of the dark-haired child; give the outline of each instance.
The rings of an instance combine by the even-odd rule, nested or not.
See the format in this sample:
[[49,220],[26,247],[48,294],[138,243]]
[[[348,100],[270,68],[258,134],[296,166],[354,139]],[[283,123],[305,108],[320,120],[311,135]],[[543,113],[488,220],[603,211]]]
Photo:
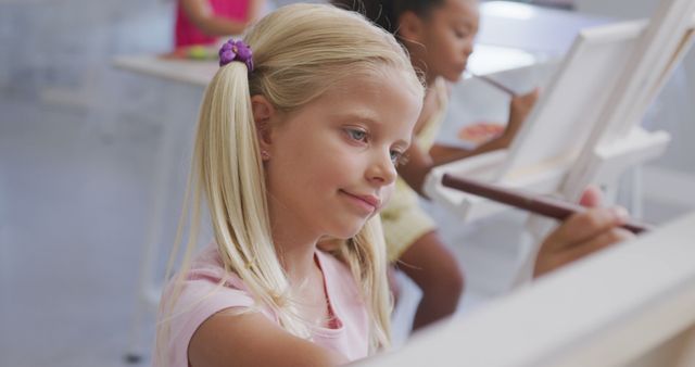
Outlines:
[[506,206],[445,188],[445,173],[577,199],[590,182],[660,155],[670,137],[635,124],[693,40],[695,1],[662,0],[647,22],[584,29],[508,150],[432,169],[425,190],[466,219]]

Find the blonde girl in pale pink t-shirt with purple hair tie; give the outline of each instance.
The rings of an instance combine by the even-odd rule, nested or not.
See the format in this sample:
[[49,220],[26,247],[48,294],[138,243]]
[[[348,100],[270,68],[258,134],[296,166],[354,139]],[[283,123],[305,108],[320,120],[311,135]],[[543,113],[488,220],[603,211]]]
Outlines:
[[[223,46],[220,65],[199,116],[189,240],[162,296],[154,365],[332,366],[387,347],[377,214],[421,109],[407,55],[361,15],[293,4]],[[203,201],[214,241],[193,255]],[[577,240],[555,235],[558,248]]]

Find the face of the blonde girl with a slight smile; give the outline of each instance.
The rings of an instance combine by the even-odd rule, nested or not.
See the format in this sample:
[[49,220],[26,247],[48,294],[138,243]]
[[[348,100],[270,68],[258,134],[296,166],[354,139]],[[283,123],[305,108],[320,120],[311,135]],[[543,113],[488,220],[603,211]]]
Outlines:
[[345,239],[378,213],[421,109],[404,78],[390,68],[355,76],[271,122],[262,147],[274,232]]

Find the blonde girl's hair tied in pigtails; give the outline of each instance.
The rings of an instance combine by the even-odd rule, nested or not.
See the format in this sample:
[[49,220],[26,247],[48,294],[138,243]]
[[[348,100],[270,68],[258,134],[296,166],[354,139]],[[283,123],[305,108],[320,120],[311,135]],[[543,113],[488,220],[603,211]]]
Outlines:
[[[190,268],[204,194],[225,269],[243,280],[257,304],[276,313],[281,327],[309,338],[308,326],[291,302],[289,281],[270,237],[264,168],[250,98],[262,94],[278,111],[292,112],[340,80],[376,76],[384,67],[402,72],[404,83],[418,98],[424,93],[422,84],[392,35],[358,14],[330,5],[280,8],[254,25],[244,41],[253,50],[253,72],[240,62],[220,67],[203,98],[189,178],[190,198],[187,192],[186,200],[192,203],[191,226],[175,281],[181,283]],[[179,225],[179,237],[182,227]],[[379,217],[368,220],[355,237],[334,241],[340,245],[331,253],[350,267],[361,284],[371,319],[370,352],[388,346],[391,300]],[[161,305],[161,315],[165,316],[157,334],[170,320],[180,293],[180,286],[174,289],[173,296]],[[157,352],[166,345],[160,337]]]

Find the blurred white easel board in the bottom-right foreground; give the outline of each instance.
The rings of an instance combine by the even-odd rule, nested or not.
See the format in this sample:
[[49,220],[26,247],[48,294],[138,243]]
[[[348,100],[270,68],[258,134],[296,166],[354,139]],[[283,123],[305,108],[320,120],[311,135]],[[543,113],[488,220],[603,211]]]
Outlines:
[[695,213],[362,366],[693,366]]

